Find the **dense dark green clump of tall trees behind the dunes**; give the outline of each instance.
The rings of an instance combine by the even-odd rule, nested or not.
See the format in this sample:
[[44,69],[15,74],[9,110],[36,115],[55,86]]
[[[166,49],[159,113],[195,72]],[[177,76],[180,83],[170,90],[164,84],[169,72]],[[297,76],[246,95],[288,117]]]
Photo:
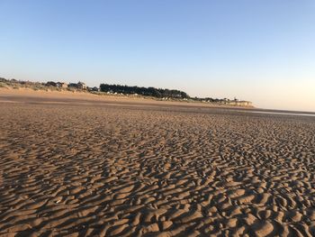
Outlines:
[[121,93],[124,95],[137,94],[140,96],[154,96],[157,98],[190,98],[190,96],[188,96],[184,91],[161,89],[155,87],[129,87],[121,85],[101,84],[100,90],[102,92]]

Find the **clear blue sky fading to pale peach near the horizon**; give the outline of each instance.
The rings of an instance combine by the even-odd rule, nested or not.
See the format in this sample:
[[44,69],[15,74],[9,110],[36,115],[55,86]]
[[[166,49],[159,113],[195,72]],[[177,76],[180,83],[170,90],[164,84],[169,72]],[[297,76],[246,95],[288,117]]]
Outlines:
[[313,0],[0,0],[0,77],[315,112]]

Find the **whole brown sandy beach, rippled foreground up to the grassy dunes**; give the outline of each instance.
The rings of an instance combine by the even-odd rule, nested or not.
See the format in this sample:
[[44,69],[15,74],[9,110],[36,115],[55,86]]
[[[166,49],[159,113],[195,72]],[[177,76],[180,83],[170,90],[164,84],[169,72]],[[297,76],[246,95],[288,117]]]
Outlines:
[[0,91],[1,236],[315,235],[315,117],[58,95]]

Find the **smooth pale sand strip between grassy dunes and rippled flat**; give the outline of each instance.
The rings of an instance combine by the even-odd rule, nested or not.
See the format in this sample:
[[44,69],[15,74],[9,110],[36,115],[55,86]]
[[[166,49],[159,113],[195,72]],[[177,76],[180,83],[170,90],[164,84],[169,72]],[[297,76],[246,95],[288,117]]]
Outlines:
[[54,103],[54,104],[67,104],[76,102],[78,105],[85,104],[112,104],[112,105],[148,105],[156,106],[163,105],[167,107],[173,106],[193,106],[196,108],[219,108],[234,110],[239,113],[253,113],[253,114],[266,114],[266,115],[305,115],[315,116],[312,112],[303,111],[289,111],[289,110],[275,110],[275,109],[263,109],[247,106],[229,106],[229,105],[217,105],[202,102],[189,102],[189,101],[176,101],[176,100],[157,100],[148,96],[118,96],[118,95],[104,95],[98,96],[94,93],[88,93],[84,91],[67,91],[67,90],[33,90],[31,88],[11,88],[0,87],[0,103],[23,103],[24,100],[37,101],[38,98],[42,98],[42,103]]

